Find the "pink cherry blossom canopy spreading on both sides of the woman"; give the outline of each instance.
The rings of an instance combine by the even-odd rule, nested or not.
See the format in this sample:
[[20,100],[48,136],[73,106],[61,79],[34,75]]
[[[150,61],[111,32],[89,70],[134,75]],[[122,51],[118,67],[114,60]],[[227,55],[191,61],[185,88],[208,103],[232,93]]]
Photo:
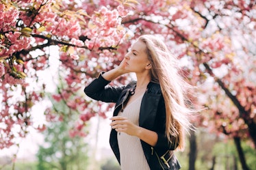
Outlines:
[[[78,91],[101,70],[116,66],[144,33],[164,39],[180,58],[181,74],[199,87],[200,100],[194,102],[209,110],[196,117],[197,126],[251,137],[256,145],[255,2],[139,2],[1,0],[0,148],[10,147],[25,136],[27,126],[34,126],[31,107],[45,98],[47,85],[38,72],[50,67],[49,46],[60,51],[53,79],[65,80],[53,98],[81,113],[84,125],[94,113],[104,116],[106,108],[100,104],[95,111]],[[114,83],[125,81],[121,77]],[[51,109],[45,114],[51,117]]]

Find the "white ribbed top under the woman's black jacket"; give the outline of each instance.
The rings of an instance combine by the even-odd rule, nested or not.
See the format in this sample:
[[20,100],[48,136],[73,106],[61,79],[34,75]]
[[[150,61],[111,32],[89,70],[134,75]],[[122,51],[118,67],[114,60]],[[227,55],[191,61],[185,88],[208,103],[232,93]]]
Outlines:
[[[127,117],[133,124],[138,125],[142,96],[129,103],[124,111],[119,112],[118,115]],[[122,170],[150,170],[138,137],[130,136],[125,132],[118,132],[117,139]]]

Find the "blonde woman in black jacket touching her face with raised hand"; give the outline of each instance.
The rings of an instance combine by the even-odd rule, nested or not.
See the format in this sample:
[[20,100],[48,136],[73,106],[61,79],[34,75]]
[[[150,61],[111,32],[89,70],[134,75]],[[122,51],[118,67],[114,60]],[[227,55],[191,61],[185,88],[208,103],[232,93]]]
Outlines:
[[[144,35],[120,65],[102,72],[84,92],[94,100],[116,102],[110,145],[122,170],[180,169],[174,150],[183,150],[190,129],[175,57],[155,36]],[[135,72],[137,81],[110,87],[110,81]]]

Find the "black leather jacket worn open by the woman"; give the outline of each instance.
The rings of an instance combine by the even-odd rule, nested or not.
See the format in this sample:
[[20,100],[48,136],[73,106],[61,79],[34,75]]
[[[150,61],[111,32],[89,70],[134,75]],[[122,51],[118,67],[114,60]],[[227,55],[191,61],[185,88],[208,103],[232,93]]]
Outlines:
[[[129,96],[131,96],[132,91],[136,87],[136,81],[122,87],[111,87],[107,85],[110,81],[103,79],[101,74],[84,89],[84,92],[94,100],[115,102],[116,107],[113,116],[116,116],[120,109],[123,109],[123,105],[127,102]],[[158,135],[157,143],[154,147],[141,141],[144,155],[151,170],[177,170],[181,168],[179,161],[173,154],[173,150],[175,150],[177,146],[169,143],[165,136],[165,122],[166,111],[161,88],[159,84],[150,82],[142,98],[139,126],[148,130],[153,130],[154,132],[157,132]],[[120,163],[117,132],[113,129],[110,133],[110,146]]]

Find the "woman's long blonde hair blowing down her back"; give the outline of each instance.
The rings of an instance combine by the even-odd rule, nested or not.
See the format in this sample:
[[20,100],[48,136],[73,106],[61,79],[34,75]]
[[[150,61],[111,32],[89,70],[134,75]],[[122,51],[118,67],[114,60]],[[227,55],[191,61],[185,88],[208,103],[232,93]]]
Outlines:
[[159,83],[166,107],[166,137],[170,143],[177,145],[177,150],[185,147],[185,132],[192,127],[189,119],[192,109],[188,107],[185,97],[188,83],[179,74],[177,58],[171,55],[166,44],[151,35],[140,36],[146,44],[146,53],[151,62],[151,81]]

